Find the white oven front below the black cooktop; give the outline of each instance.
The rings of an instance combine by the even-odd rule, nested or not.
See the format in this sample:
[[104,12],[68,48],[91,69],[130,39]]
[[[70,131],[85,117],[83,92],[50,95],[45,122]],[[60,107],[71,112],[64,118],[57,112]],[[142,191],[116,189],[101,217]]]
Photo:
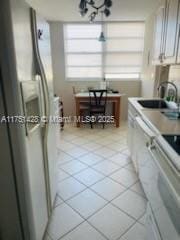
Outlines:
[[149,153],[151,158],[149,158],[147,196],[151,214],[148,214],[148,218],[154,219],[149,223],[151,228],[154,226],[158,229],[160,239],[179,240],[180,172],[157,141],[153,141]]

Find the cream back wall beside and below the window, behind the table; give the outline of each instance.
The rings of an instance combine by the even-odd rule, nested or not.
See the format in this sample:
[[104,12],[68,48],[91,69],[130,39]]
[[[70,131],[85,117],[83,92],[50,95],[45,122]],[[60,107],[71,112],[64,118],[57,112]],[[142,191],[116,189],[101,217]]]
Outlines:
[[[62,22],[50,22],[51,44],[52,44],[52,62],[54,74],[54,92],[61,96],[64,103],[65,115],[75,115],[75,101],[72,87],[76,90],[87,89],[87,87],[98,87],[99,82],[68,82],[65,78],[65,62],[64,62],[64,40],[63,40],[63,24]],[[127,98],[140,96],[141,81],[114,81],[110,82],[110,87],[125,93],[121,102],[121,119],[127,118]]]

